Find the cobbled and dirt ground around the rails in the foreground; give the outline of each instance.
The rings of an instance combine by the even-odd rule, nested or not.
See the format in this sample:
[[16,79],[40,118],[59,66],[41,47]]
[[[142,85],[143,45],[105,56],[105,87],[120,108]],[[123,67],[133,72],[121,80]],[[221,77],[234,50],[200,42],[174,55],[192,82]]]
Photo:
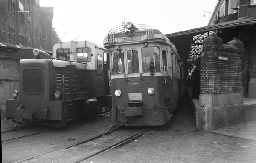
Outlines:
[[[143,136],[86,162],[256,163],[256,141],[218,135],[212,132],[198,132],[191,105],[188,101],[183,101],[183,104],[166,125],[154,126]],[[14,126],[14,123],[10,123],[10,120],[5,120],[1,116],[2,130]],[[64,127],[58,132],[47,132],[37,135],[36,138],[28,137],[12,142],[2,142],[3,162],[14,162],[28,157],[31,153],[31,155],[35,155],[57,149],[70,143],[68,138],[75,138],[74,141],[79,141],[79,139],[89,136],[87,135],[88,132],[97,133],[101,129],[109,128],[111,125],[107,121],[107,117],[102,117],[99,118],[99,121],[87,121],[81,125]],[[129,127],[126,129],[127,132],[132,130]],[[113,135],[103,137],[102,140],[80,144],[70,149],[61,149],[25,162],[75,162],[90,151],[98,150],[97,148],[102,148],[120,138],[119,132],[115,132]],[[12,153],[14,150],[21,152]],[[15,160],[15,158],[17,159]]]

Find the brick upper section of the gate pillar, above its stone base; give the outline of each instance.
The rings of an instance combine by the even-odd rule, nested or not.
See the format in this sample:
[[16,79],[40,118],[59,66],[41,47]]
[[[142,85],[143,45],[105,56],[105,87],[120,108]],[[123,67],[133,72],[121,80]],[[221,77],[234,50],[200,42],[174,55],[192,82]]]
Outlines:
[[201,56],[201,94],[242,93],[243,52],[238,39],[225,45],[217,35],[207,37]]

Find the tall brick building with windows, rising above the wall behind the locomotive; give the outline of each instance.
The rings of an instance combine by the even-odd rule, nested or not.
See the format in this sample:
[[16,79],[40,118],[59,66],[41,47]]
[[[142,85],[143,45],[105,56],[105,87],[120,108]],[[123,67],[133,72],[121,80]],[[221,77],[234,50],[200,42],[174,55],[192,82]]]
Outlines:
[[52,53],[60,42],[52,19],[53,7],[41,7],[40,0],[0,0],[0,42]]

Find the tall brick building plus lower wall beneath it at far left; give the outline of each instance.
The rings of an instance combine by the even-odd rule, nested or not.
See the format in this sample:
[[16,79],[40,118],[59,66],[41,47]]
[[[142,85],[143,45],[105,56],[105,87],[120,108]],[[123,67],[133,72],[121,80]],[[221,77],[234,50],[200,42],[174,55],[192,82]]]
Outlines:
[[19,90],[19,59],[34,58],[33,48],[52,55],[60,42],[52,27],[53,7],[41,7],[40,0],[0,0],[0,104],[6,110],[6,99]]

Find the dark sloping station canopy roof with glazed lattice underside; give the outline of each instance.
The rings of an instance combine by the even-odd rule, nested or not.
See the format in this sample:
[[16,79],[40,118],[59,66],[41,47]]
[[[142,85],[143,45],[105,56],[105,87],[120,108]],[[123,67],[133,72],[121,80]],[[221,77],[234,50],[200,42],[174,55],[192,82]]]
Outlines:
[[[200,28],[166,34],[166,37],[175,45],[179,55],[189,67],[193,63],[200,64],[204,39],[206,37],[209,37],[212,34],[217,34],[221,39],[223,39],[223,43],[226,44],[228,41],[231,41],[234,36],[239,38],[238,35],[241,32],[241,27],[255,25],[255,17],[239,18],[233,21],[221,22],[214,25],[207,25]],[[225,35],[223,32],[225,32]],[[221,33],[223,35],[221,35]]]

